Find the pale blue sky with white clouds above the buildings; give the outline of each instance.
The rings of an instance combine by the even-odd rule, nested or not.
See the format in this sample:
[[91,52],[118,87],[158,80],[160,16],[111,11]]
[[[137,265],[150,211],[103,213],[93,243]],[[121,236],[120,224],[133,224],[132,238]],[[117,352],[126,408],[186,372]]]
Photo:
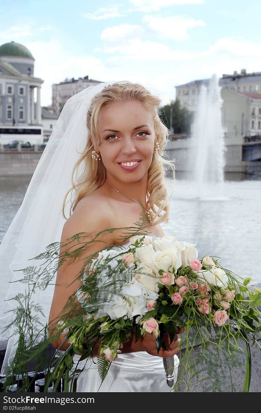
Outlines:
[[86,75],[142,83],[162,104],[175,86],[261,71],[260,0],[0,0],[0,45],[35,58],[41,104],[52,84]]

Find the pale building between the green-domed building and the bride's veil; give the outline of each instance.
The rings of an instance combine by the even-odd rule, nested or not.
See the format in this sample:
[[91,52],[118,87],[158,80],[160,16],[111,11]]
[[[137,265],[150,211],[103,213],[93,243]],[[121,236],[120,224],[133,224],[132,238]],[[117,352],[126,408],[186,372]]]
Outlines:
[[96,86],[101,83],[100,81],[89,79],[89,76],[79,79],[68,79],[60,83],[54,83],[52,85],[52,108],[54,113],[59,116],[66,100],[88,86]]

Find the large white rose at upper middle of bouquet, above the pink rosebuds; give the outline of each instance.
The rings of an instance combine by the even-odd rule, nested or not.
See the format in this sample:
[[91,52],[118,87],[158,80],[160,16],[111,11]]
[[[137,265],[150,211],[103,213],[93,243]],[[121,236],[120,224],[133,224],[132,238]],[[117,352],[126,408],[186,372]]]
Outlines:
[[151,257],[151,262],[146,263],[150,267],[154,274],[158,275],[159,270],[163,270],[165,273],[169,272],[170,268],[175,268],[175,272],[181,266],[181,254],[178,249],[173,247],[172,249],[164,249],[163,251],[157,251]]

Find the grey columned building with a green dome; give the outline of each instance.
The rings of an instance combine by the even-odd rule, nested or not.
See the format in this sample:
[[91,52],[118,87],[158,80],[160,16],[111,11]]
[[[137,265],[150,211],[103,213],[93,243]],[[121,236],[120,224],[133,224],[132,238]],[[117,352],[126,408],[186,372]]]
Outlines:
[[[0,46],[0,143],[43,142],[41,85],[34,76],[35,59],[25,46]],[[35,96],[36,95],[36,96]],[[36,97],[36,102],[35,102]]]

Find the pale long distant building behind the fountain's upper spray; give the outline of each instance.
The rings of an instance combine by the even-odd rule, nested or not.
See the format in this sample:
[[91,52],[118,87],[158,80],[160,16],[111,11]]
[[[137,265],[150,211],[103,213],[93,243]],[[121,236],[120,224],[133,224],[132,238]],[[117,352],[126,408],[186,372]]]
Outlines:
[[[202,85],[208,87],[209,81],[201,79],[176,86],[176,99],[179,99],[182,107],[194,112],[198,107],[200,88]],[[241,73],[234,71],[233,75],[223,74],[219,85],[237,92],[261,93],[261,72],[247,73],[242,69]]]

